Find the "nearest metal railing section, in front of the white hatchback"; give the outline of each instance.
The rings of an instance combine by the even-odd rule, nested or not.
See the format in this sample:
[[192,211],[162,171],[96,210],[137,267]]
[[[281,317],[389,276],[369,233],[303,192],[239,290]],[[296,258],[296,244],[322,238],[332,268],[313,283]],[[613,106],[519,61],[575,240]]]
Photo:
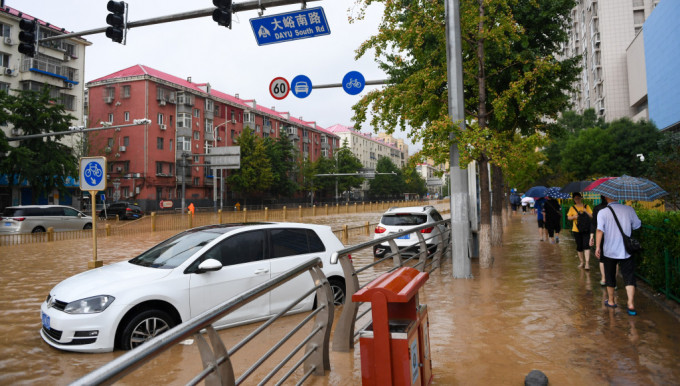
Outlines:
[[[300,264],[288,272],[270,279],[251,290],[234,297],[224,303],[208,310],[195,318],[192,318],[178,326],[175,326],[170,331],[149,340],[138,348],[131,350],[122,356],[114,359],[101,368],[85,375],[84,377],[73,382],[73,385],[99,385],[112,384],[124,376],[132,373],[137,368],[141,367],[146,362],[154,359],[162,352],[168,350],[170,347],[184,341],[193,336],[198,344],[201,360],[203,362],[203,370],[197,374],[188,384],[196,385],[201,381],[205,381],[206,385],[238,385],[243,383],[246,378],[267,359],[277,349],[279,349],[285,342],[287,342],[297,331],[299,331],[308,321],[316,316],[314,327],[309,335],[307,335],[301,343],[299,343],[275,368],[265,376],[262,383],[268,381],[278,371],[280,371],[293,357],[298,353],[302,347],[305,347],[305,354],[297,361],[294,366],[283,375],[279,382],[284,382],[288,379],[299,367],[304,365],[304,375],[300,383],[304,382],[309,376],[325,375],[326,370],[330,370],[330,356],[329,356],[329,340],[331,326],[333,324],[333,292],[330,284],[321,270],[321,259],[314,258],[306,263]],[[278,314],[272,316],[264,324],[255,329],[247,337],[237,343],[234,347],[227,349],[224,347],[222,339],[219,337],[212,324],[238,309],[239,307],[249,303],[250,301],[267,294],[287,281],[305,273],[309,272],[312,275],[316,286],[307,293],[301,295],[294,300],[286,309]],[[255,361],[255,363],[248,368],[238,379],[234,375],[234,368],[232,367],[230,357],[234,355],[239,349],[250,342],[254,337],[264,331],[274,321],[283,316],[286,312],[292,309],[300,301],[307,296],[316,292],[317,308],[310,313],[304,320],[302,320],[292,331],[290,331],[283,339],[274,344],[273,347],[263,355],[262,358]],[[206,331],[210,343],[201,334],[201,330]],[[212,347],[211,347],[212,346]]]

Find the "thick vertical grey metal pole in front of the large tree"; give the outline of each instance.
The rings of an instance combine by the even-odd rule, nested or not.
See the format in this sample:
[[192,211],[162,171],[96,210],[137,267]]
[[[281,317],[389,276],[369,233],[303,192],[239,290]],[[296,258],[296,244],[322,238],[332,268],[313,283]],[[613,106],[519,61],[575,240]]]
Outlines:
[[[460,33],[460,1],[446,0],[446,62],[449,83],[449,115],[454,123],[465,130],[465,104],[463,99],[463,55]],[[450,148],[451,165],[451,259],[453,277],[469,278],[470,236],[469,197],[467,173],[460,168],[458,144]]]

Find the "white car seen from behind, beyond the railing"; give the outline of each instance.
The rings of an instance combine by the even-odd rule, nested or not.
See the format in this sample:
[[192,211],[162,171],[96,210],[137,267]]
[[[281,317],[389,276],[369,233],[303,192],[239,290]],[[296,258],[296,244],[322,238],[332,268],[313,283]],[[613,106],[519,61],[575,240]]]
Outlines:
[[[439,214],[439,212],[431,205],[390,208],[382,215],[380,223],[375,227],[373,239],[379,239],[424,224],[434,224],[441,220],[443,220],[441,214]],[[438,227],[442,233],[446,230],[446,225],[440,224]],[[427,235],[423,236],[425,238],[425,243],[428,245],[427,249],[429,254],[433,254],[437,251],[437,244],[439,244],[441,240],[441,237],[438,235],[430,235],[433,230],[434,225],[431,228],[425,228],[420,231],[420,233],[427,233]],[[405,247],[406,252],[418,251],[418,237],[413,233],[398,237],[394,239],[394,241],[400,249]],[[387,242],[375,245],[373,247],[373,256],[382,258],[389,250],[390,247]]]

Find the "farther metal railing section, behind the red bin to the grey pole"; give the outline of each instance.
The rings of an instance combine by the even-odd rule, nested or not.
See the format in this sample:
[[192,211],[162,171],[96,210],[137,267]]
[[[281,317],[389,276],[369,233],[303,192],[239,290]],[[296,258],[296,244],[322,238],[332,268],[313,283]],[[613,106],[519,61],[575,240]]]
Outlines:
[[[441,232],[437,225],[446,225],[447,223],[450,223],[450,221],[451,220],[442,220],[434,223],[433,228],[434,234],[430,234],[430,237],[434,238],[439,236],[440,241],[439,244],[437,244],[437,251],[432,256],[432,262],[429,264],[427,263],[429,254],[426,239],[423,236],[423,234],[420,233],[420,230],[432,227],[433,226],[432,223],[421,225],[399,233],[394,233],[390,236],[385,236],[379,239],[357,244],[355,246],[341,249],[333,253],[333,255],[331,256],[331,264],[340,262],[343,273],[345,274],[345,299],[347,299],[345,301],[344,306],[342,307],[342,313],[340,314],[340,318],[338,319],[338,324],[335,327],[335,332],[333,335],[333,351],[348,352],[354,348],[355,339],[356,336],[358,335],[358,333],[355,332],[355,324],[359,319],[361,319],[361,317],[365,316],[371,310],[369,307],[368,309],[363,310],[362,313],[359,316],[357,316],[357,314],[359,313],[359,307],[363,303],[355,303],[351,301],[352,295],[354,295],[358,290],[360,290],[361,288],[365,287],[366,284],[368,284],[365,283],[364,285],[360,285],[358,274],[388,259],[393,260],[393,267],[389,270],[389,272],[391,272],[398,269],[399,267],[404,266],[408,262],[414,260],[416,257],[418,258],[418,263],[416,263],[413,266],[414,268],[423,272],[427,268],[432,267],[428,272],[433,272],[434,270],[441,266],[442,256],[448,254],[451,249],[451,229],[447,227],[445,232]],[[404,254],[409,249],[412,249],[412,246],[399,248],[394,240],[397,237],[405,236],[411,233],[416,234],[418,237],[417,245],[419,251],[413,256],[409,256],[408,258],[404,259]],[[364,267],[361,267],[359,269],[354,268],[354,264],[348,257],[350,254],[365,248],[372,249],[374,245],[382,244],[385,241],[387,241],[390,245],[391,249],[390,253],[386,254],[385,257],[383,257],[382,259],[367,264]],[[357,331],[361,331],[361,329],[358,329]]]

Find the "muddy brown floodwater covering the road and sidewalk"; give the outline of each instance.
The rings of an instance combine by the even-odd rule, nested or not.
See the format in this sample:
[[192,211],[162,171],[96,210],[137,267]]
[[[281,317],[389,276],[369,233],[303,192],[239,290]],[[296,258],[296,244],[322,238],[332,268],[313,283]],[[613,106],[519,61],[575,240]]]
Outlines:
[[[315,222],[338,228],[378,219],[379,214],[359,214]],[[123,261],[171,235],[100,239],[99,258],[105,264]],[[367,239],[354,237],[350,243]],[[473,260],[472,279],[453,279],[446,261],[430,276],[420,301],[429,310],[435,384],[522,384],[533,369],[543,371],[552,385],[680,384],[677,317],[640,292],[637,317],[604,307],[599,271],[577,268],[570,235],[563,232],[561,239],[556,245],[538,241],[535,217],[516,215],[505,228],[504,245],[493,250],[493,268],[480,269]],[[369,251],[353,257],[356,265],[373,261]],[[62,352],[38,333],[40,304],[49,290],[85,270],[91,259],[91,243],[83,240],[0,248],[0,384],[68,384],[121,355]],[[376,268],[366,275],[378,274]],[[618,289],[617,295],[625,304],[625,290]],[[255,349],[271,347],[275,335],[303,316],[277,322]],[[220,335],[230,347],[252,329],[242,326]],[[360,384],[358,347],[331,352],[332,370],[308,383]],[[249,351],[239,354],[234,358],[237,375],[253,358]],[[122,383],[184,384],[200,367],[196,344],[178,345]],[[257,383],[254,379],[245,383]]]

